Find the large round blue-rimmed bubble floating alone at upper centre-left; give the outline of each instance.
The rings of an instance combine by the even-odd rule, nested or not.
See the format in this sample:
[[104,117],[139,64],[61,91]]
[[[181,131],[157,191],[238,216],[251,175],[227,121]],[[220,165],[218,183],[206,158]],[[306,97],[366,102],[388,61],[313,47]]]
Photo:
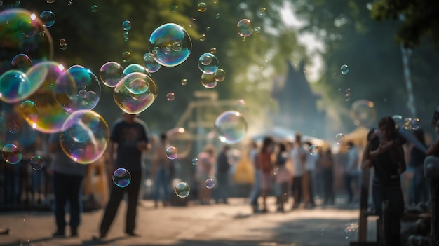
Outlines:
[[[166,48],[172,47],[175,42],[180,43],[179,50]],[[174,23],[161,25],[149,37],[149,53],[153,54],[154,60],[162,66],[175,67],[182,64],[191,54],[191,50],[192,41],[189,34],[183,27]]]

